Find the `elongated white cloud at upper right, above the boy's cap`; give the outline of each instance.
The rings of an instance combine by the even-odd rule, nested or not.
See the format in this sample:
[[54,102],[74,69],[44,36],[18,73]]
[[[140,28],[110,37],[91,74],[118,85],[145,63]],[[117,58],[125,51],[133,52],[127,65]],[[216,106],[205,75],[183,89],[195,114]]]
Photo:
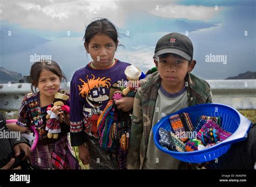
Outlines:
[[[218,9],[218,13],[219,13]],[[191,20],[209,20],[215,16],[217,10],[215,6],[195,6],[195,5],[158,5],[151,11],[153,15],[167,18],[185,18]]]

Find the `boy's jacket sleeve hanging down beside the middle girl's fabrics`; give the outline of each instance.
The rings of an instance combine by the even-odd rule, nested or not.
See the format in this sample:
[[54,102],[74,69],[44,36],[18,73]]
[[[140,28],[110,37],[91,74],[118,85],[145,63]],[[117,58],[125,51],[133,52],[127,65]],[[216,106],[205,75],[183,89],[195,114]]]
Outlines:
[[[143,135],[143,112],[142,112],[142,93],[138,89],[133,103],[132,125],[130,133],[130,146],[127,155],[127,169],[139,169],[140,166],[140,144]],[[145,153],[144,153],[145,154]]]

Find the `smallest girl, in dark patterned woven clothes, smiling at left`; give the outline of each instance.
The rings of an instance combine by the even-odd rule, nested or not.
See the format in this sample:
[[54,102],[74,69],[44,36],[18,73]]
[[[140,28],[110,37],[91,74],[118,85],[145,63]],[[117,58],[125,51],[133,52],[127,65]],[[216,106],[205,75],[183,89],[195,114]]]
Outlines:
[[[31,152],[30,162],[32,166],[39,169],[62,169],[57,161],[52,162],[52,159],[56,159],[56,155],[66,160],[66,150],[68,149],[66,134],[69,132],[69,115],[64,111],[60,112],[60,106],[52,106],[57,92],[64,94],[58,93],[57,95],[63,96],[67,105],[69,105],[68,91],[59,89],[63,78],[65,76],[55,61],[35,62],[30,70],[31,90],[33,93],[28,93],[24,97],[19,109],[17,123],[9,126],[11,130],[21,132],[26,132],[30,126],[35,127],[39,139],[36,148]],[[36,88],[39,92],[36,92]],[[49,105],[52,107],[49,107]],[[64,119],[60,124],[60,133],[52,130],[58,133],[57,139],[48,138],[48,133],[51,131],[46,131],[46,115],[48,114],[46,110],[51,110]],[[68,169],[66,166],[63,168]]]

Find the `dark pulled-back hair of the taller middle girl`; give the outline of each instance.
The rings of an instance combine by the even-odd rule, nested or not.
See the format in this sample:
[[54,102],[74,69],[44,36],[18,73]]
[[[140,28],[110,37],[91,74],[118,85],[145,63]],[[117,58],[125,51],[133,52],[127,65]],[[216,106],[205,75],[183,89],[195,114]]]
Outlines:
[[89,45],[91,38],[95,34],[106,34],[115,43],[117,43],[119,38],[117,33],[117,27],[114,26],[114,24],[111,23],[111,21],[106,18],[101,18],[101,19],[92,21],[92,23],[90,23],[86,27],[85,34],[84,34],[84,42],[87,45]]

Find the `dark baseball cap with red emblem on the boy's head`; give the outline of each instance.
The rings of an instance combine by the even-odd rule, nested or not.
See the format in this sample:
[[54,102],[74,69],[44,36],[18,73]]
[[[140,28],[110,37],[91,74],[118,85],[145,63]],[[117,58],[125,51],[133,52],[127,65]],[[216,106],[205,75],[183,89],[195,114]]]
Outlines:
[[190,61],[193,59],[193,44],[186,35],[175,32],[166,34],[158,40],[153,59],[164,53],[178,54]]

